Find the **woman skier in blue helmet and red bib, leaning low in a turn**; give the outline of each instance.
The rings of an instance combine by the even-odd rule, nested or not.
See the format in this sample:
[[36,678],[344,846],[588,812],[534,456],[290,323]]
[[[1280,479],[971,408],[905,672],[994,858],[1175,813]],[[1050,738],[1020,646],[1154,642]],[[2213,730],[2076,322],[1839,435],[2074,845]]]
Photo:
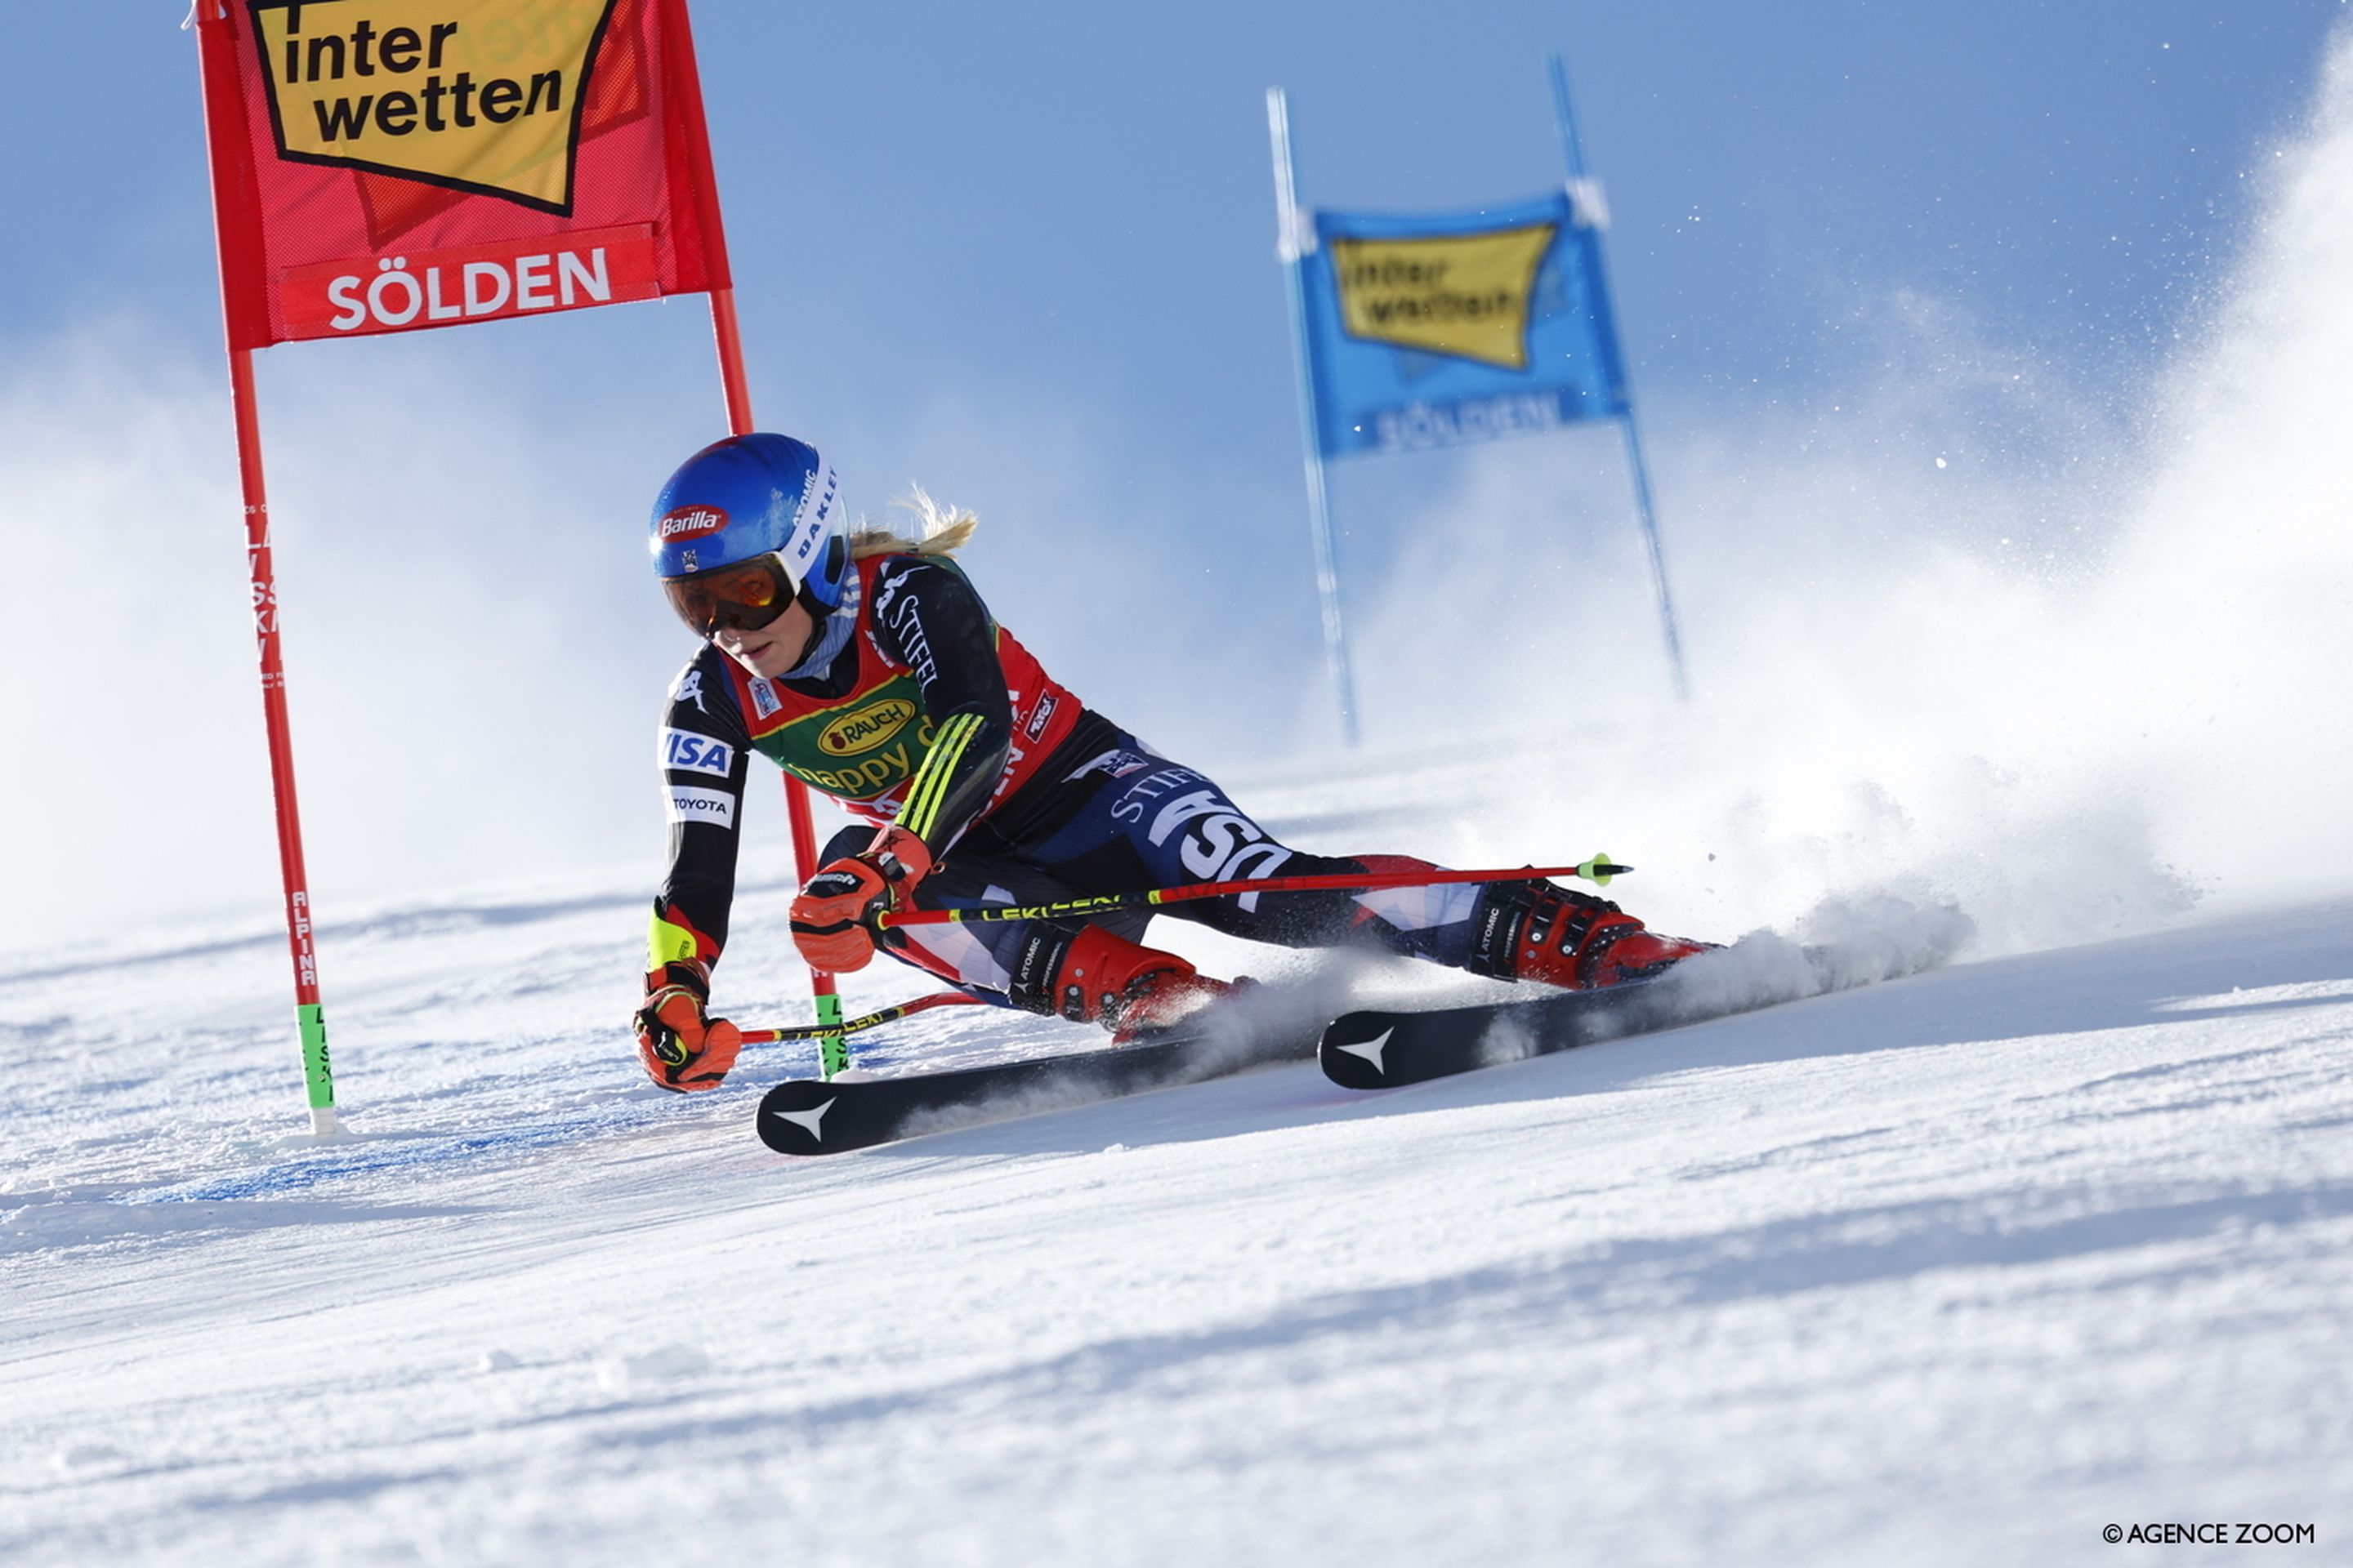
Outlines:
[[[918,496],[925,536],[847,524],[833,465],[784,435],[704,447],[654,501],[654,571],[704,646],[661,719],[671,867],[654,900],[638,1053],[664,1088],[713,1088],[739,1030],[708,1016],[734,900],[751,752],[868,825],[838,835],[791,907],[812,969],[875,954],[878,910],[1052,903],[1181,882],[1435,870],[1308,856],[1202,773],[1082,705],[1000,628],[948,555],[969,515]],[[1266,893],[1167,914],[1287,947],[1374,943],[1572,990],[1699,952],[1551,882]],[[1132,1032],[1233,990],[1141,945],[1151,912],[892,929],[892,957],[951,985]]]

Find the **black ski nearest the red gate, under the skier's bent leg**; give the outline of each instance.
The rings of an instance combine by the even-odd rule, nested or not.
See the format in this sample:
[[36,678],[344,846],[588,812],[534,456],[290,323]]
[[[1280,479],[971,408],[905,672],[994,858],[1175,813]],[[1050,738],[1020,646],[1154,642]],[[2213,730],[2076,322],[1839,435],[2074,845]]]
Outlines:
[[901,1138],[1200,1084],[1313,1053],[1313,1027],[1214,1030],[951,1072],[791,1079],[760,1098],[760,1143],[779,1154],[847,1154]]

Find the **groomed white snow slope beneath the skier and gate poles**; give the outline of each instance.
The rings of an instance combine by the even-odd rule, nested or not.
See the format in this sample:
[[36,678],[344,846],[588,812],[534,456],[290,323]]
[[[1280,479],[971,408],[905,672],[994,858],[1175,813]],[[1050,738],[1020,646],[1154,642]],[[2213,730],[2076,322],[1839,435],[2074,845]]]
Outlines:
[[[795,1051],[699,1100],[638,1079],[640,907],[329,929],[332,1147],[285,1138],[273,936],[0,973],[0,1561],[2047,1563],[2167,1519],[2313,1523],[2320,1561],[2353,1530],[2353,900],[838,1161],[753,1140]],[[755,889],[741,929],[779,917]],[[739,947],[734,994],[791,997]],[[871,1060],[1066,1027],[979,1013]]]

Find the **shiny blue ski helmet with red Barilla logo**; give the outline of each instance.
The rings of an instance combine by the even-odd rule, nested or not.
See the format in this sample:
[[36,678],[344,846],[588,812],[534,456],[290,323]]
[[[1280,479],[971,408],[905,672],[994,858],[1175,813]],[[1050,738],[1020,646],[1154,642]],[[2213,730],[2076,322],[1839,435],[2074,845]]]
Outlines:
[[654,576],[682,578],[774,555],[812,609],[835,609],[849,538],[833,463],[791,435],[729,435],[654,496]]

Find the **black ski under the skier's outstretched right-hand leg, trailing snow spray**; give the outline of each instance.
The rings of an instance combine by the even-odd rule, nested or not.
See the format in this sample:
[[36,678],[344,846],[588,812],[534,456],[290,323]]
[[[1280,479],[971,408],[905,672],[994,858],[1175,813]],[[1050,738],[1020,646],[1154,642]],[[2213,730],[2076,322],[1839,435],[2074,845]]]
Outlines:
[[1831,983],[1824,957],[1809,950],[1807,959],[1821,983],[1784,992],[1701,990],[1682,983],[1692,976],[1671,971],[1654,980],[1598,992],[1558,992],[1532,1001],[1428,1013],[1346,1013],[1325,1030],[1315,1058],[1325,1077],[1341,1088],[1402,1088],[1602,1039],[1753,1013],[1859,983]]

